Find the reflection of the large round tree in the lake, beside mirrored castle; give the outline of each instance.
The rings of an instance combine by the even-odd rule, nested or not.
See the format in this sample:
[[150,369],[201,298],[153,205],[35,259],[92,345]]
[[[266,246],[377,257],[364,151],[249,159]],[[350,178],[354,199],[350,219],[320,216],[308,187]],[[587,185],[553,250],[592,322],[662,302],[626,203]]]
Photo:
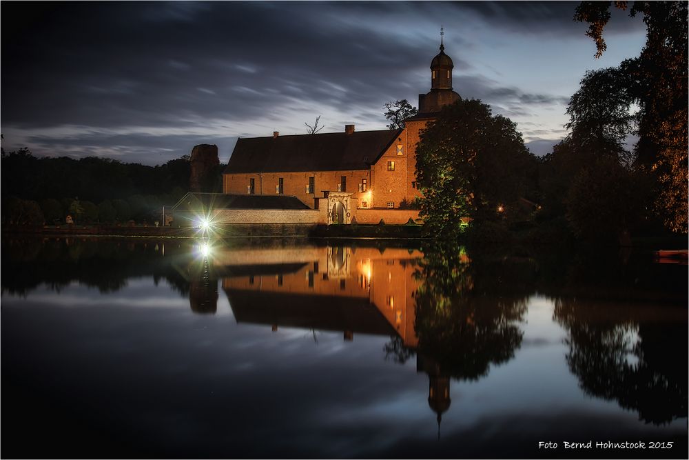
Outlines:
[[526,295],[496,293],[477,281],[477,267],[460,246],[424,254],[415,296],[418,352],[455,379],[485,377],[491,363],[508,361],[520,348]]

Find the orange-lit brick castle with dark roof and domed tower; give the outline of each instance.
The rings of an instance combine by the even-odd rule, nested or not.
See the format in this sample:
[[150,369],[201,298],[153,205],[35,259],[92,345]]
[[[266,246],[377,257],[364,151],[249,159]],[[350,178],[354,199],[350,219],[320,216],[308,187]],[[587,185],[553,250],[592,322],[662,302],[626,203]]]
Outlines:
[[[360,209],[399,209],[419,196],[416,146],[426,123],[460,95],[452,89],[452,59],[431,61],[431,90],[419,94],[419,112],[401,130],[356,131],[238,139],[223,172],[225,194],[294,196],[318,209],[323,197],[338,201],[331,221],[349,223]],[[351,212],[350,212],[351,211]]]

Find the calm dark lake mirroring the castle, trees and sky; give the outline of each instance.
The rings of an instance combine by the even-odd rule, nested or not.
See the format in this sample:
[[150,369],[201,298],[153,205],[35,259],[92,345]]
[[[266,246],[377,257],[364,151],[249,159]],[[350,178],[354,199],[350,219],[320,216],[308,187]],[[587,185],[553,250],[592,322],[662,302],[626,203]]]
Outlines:
[[2,457],[686,458],[687,266],[413,244],[3,239]]

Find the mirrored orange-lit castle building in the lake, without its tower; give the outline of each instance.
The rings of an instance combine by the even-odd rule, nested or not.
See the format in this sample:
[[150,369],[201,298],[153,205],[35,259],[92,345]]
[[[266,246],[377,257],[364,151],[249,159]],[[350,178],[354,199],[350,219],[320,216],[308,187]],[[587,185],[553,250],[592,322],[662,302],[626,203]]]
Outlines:
[[[305,247],[227,250],[214,261],[229,276],[223,290],[239,323],[397,335],[415,347],[418,250]],[[289,263],[286,263],[289,261]]]

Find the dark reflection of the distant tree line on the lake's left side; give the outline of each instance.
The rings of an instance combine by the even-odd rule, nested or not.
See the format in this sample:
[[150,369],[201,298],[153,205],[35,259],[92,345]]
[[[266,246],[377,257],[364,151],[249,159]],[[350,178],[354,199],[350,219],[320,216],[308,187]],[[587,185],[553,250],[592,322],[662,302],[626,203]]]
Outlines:
[[[208,299],[216,283],[217,301],[217,277],[212,264],[204,265],[198,244],[171,239],[3,238],[2,292],[25,296],[41,283],[60,292],[77,281],[107,293],[125,288],[129,279],[152,276],[156,284],[165,279],[190,299],[192,283],[196,283],[194,295]],[[207,292],[201,287],[207,287]],[[207,303],[207,299],[199,302]]]

